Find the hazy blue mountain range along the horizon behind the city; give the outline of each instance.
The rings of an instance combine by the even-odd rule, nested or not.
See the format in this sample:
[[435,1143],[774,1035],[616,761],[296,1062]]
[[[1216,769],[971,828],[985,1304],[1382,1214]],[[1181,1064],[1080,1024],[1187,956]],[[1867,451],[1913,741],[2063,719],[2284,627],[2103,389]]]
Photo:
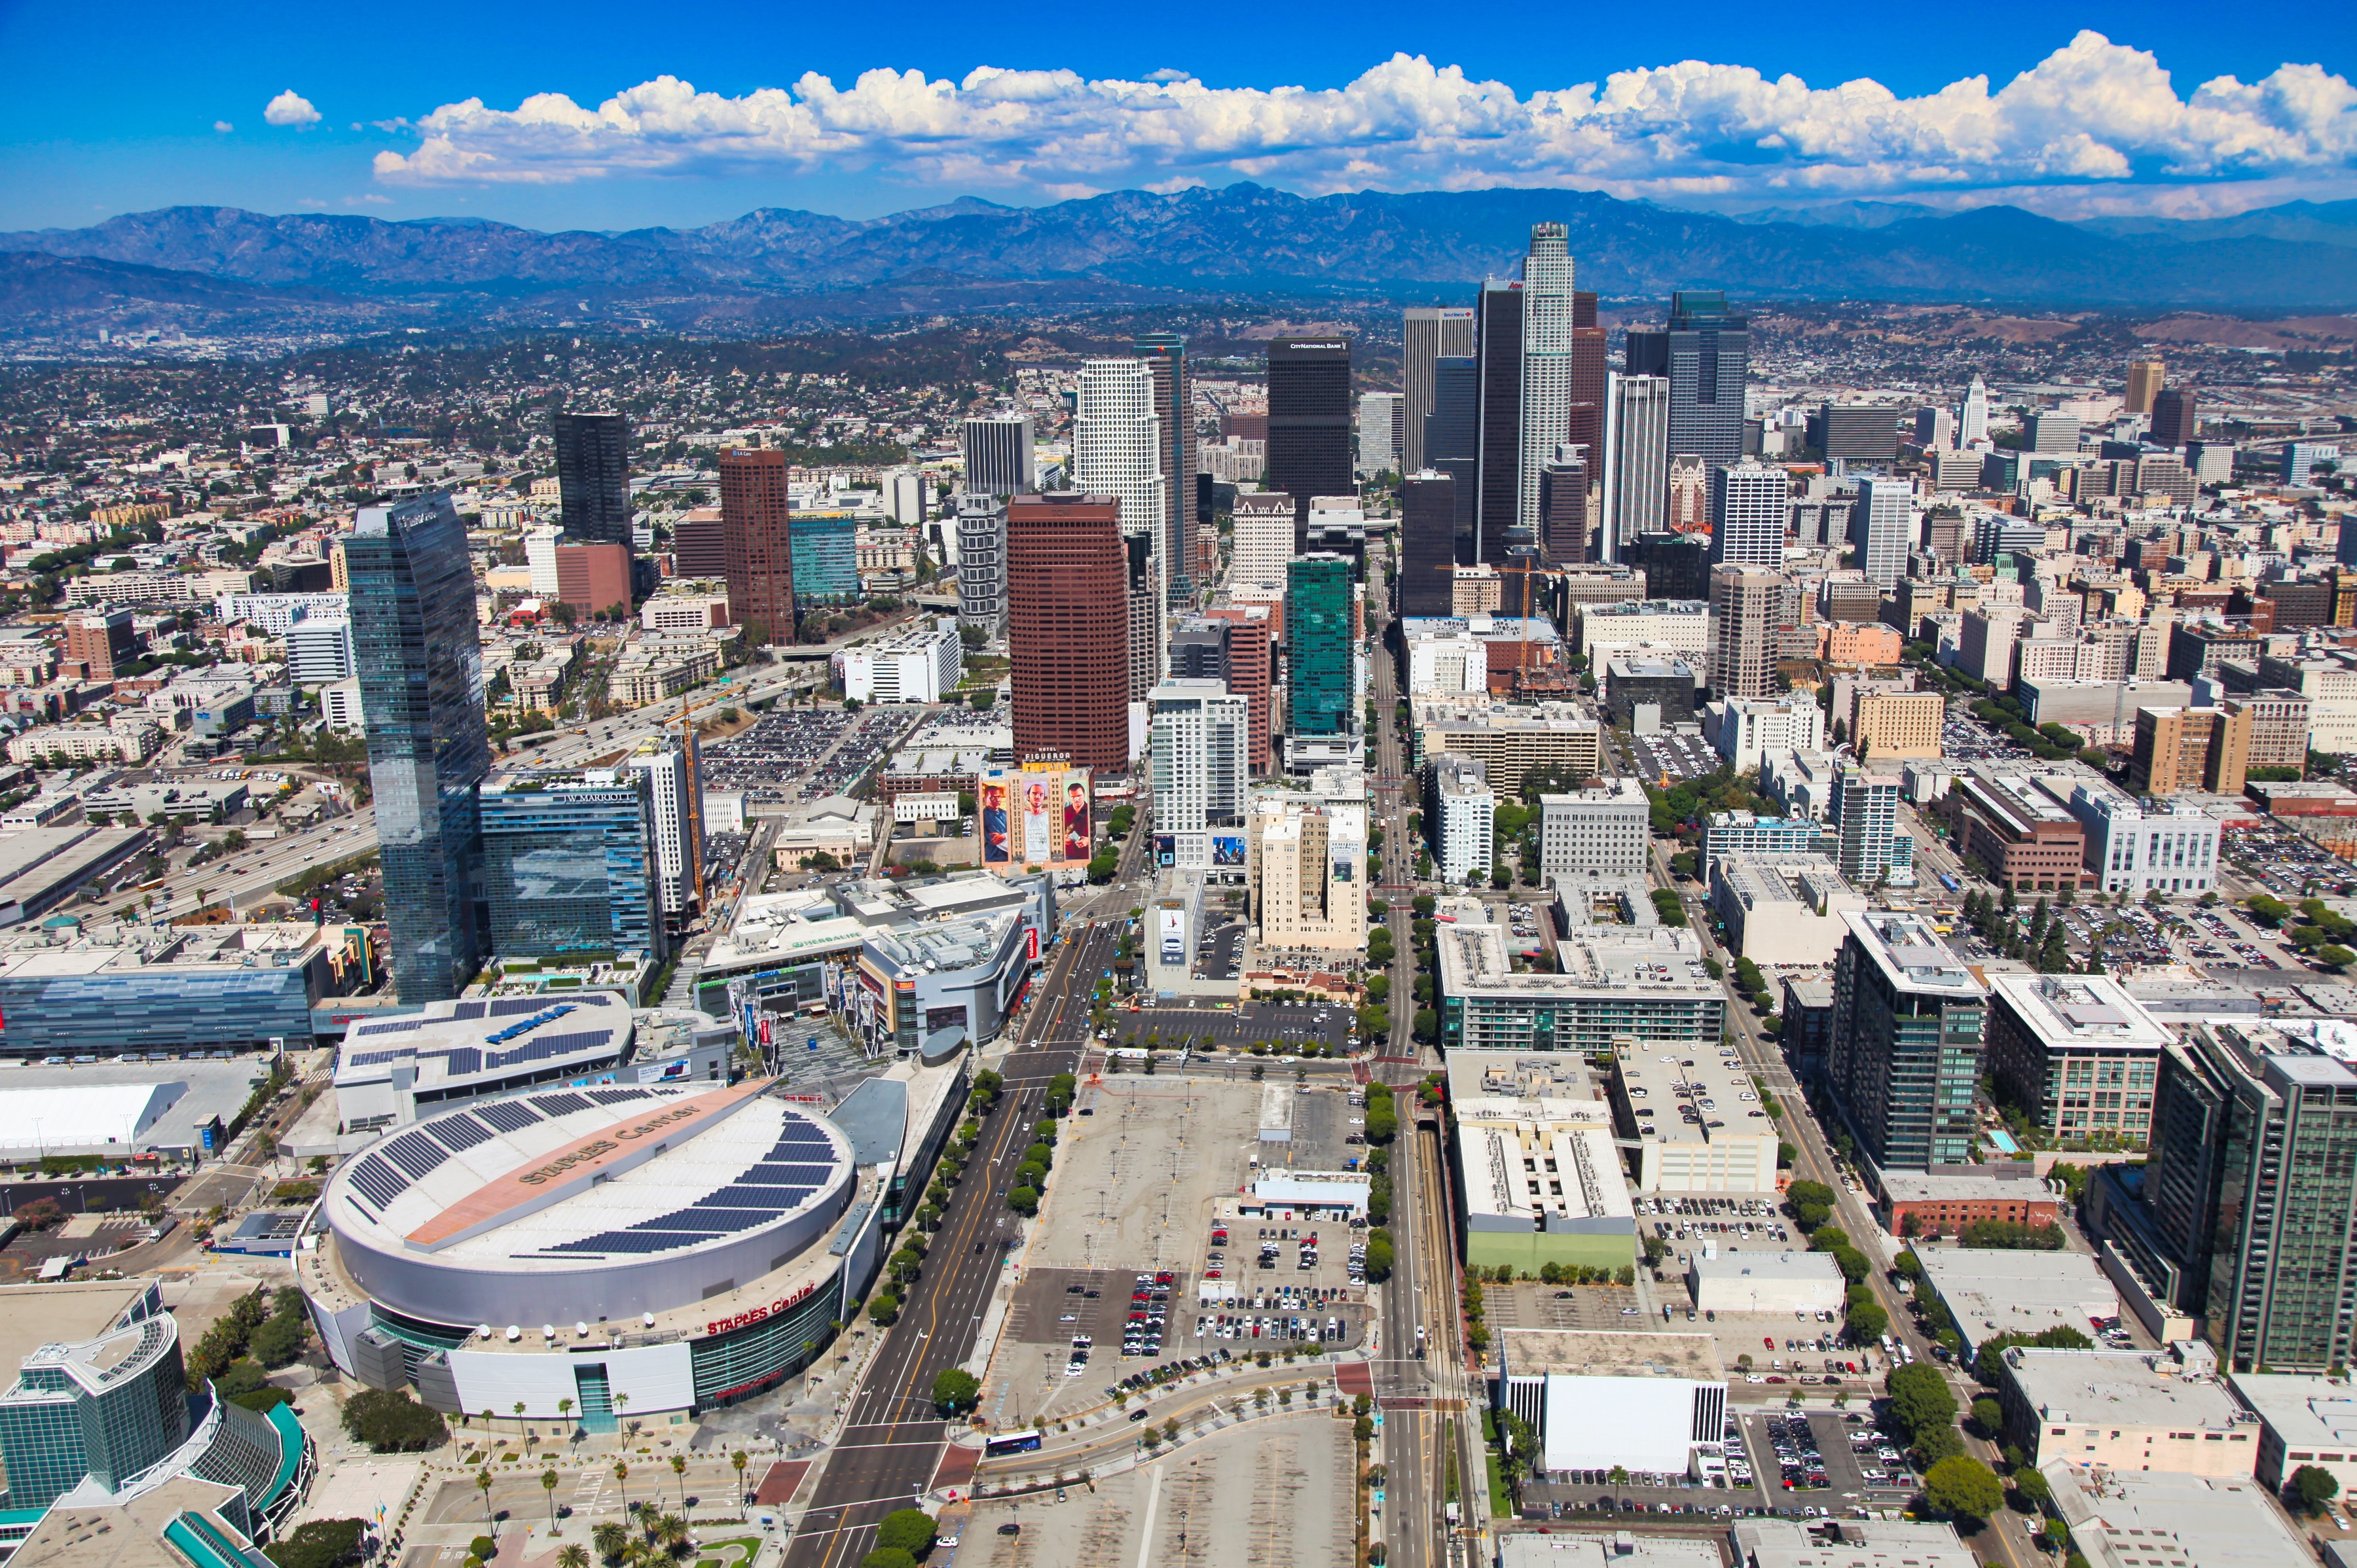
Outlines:
[[964,198],[879,219],[766,207],[702,228],[622,233],[163,207],[90,228],[0,233],[0,332],[106,315],[125,330],[191,315],[212,327],[636,318],[761,330],[1171,294],[1457,301],[1483,278],[1516,275],[1541,219],[1570,228],[1579,285],[1607,299],[1723,287],[1744,299],[2088,308],[2357,304],[2357,202],[2069,224],[2018,207],[1836,202],[1721,217],[1593,191],[1303,198],[1237,184],[1051,207]]

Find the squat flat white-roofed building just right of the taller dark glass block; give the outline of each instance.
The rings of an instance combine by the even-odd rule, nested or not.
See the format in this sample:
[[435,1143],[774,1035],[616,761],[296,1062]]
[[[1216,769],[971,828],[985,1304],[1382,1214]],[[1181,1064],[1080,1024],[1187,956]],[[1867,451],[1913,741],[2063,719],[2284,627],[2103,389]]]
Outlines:
[[2048,1137],[2145,1144],[2164,1045],[2110,975],[1989,975],[1989,1076]]

